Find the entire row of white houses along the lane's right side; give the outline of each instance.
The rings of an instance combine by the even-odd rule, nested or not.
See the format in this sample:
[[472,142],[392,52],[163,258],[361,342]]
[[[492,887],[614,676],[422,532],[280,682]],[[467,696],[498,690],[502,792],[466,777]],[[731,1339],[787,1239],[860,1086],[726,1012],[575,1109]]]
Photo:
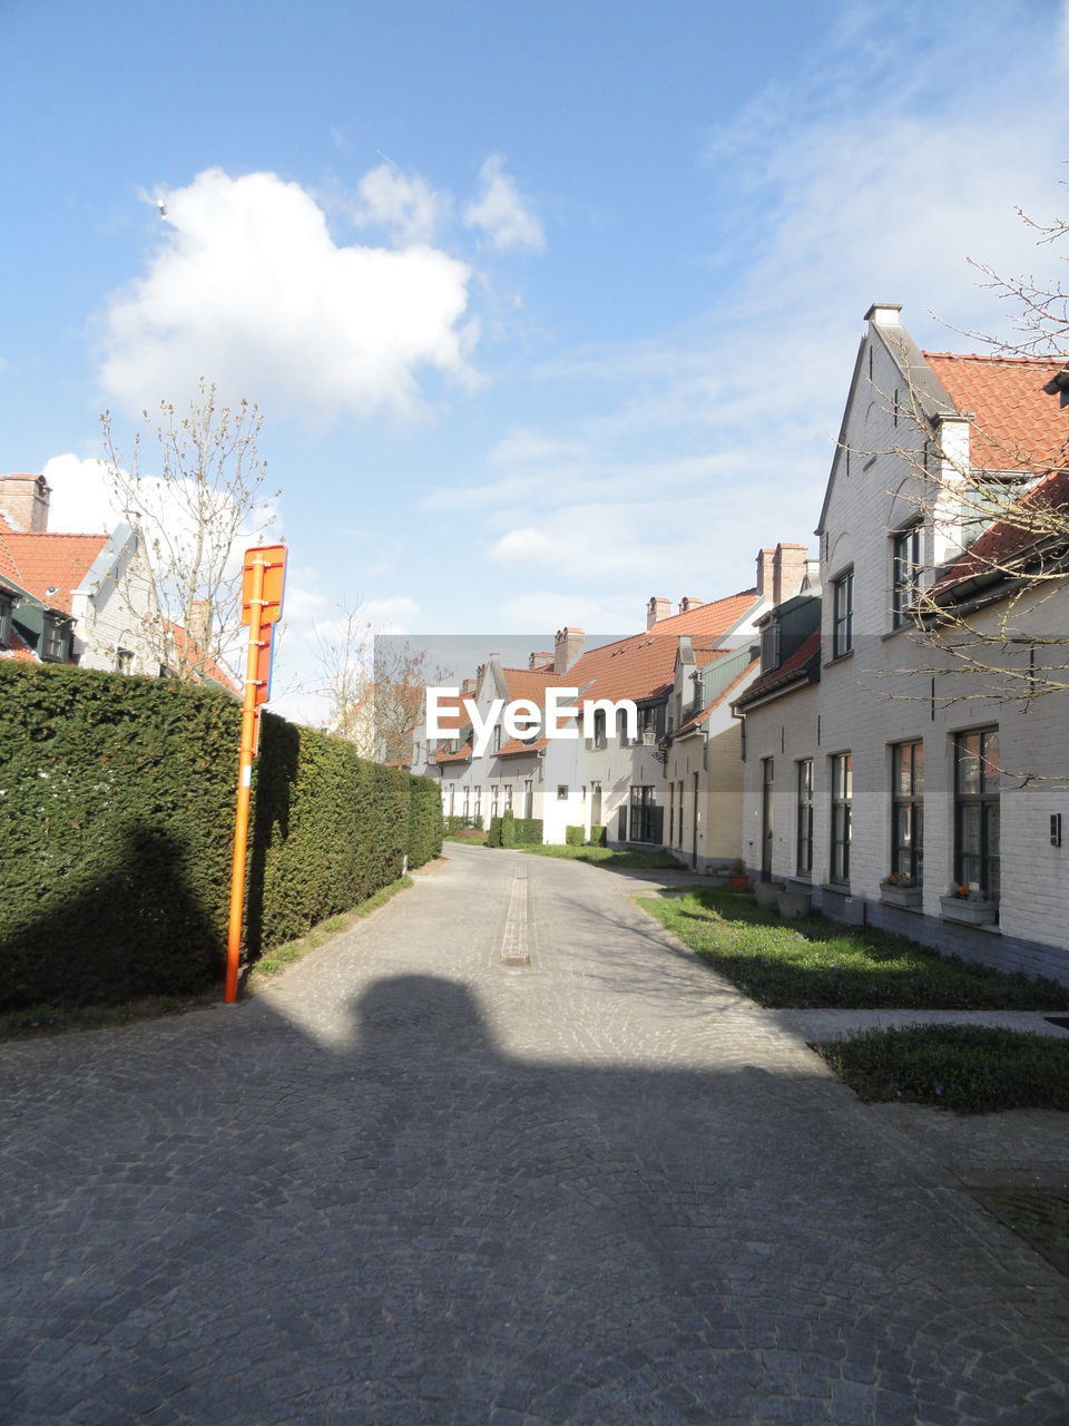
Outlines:
[[[650,599],[627,639],[489,657],[448,736],[416,730],[416,770],[446,814],[510,807],[549,843],[604,827],[1069,981],[1068,388],[1065,358],[922,352],[874,305],[815,555],[781,540],[754,588]],[[547,736],[562,687],[607,704],[573,739]],[[495,700],[540,717],[479,750]]]

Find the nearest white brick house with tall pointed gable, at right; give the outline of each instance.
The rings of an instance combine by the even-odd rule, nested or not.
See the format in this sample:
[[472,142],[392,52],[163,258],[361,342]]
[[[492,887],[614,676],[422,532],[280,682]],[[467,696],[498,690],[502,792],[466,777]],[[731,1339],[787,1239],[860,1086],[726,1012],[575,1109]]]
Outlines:
[[[1069,414],[1043,392],[1062,362],[924,354],[891,305],[867,321],[817,530],[820,639],[770,647],[737,700],[747,867],[808,881],[832,915],[1069,981],[1069,693],[925,647],[909,612],[918,588],[945,589],[976,637],[998,633],[1022,586],[962,553],[962,473],[1019,491],[1065,463]],[[1011,528],[996,518],[972,550]],[[817,610],[798,615],[767,630],[801,635]],[[1012,623],[982,659],[1026,674],[1039,640],[1069,639],[1069,588],[1013,603]]]

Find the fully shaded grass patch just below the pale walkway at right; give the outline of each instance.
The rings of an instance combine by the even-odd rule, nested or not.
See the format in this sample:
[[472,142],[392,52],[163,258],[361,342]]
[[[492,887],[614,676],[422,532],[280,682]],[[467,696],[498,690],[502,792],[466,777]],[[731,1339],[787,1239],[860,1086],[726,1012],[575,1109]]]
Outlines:
[[989,1025],[911,1025],[812,1048],[867,1102],[908,1099],[959,1114],[1069,1109],[1069,1040]]

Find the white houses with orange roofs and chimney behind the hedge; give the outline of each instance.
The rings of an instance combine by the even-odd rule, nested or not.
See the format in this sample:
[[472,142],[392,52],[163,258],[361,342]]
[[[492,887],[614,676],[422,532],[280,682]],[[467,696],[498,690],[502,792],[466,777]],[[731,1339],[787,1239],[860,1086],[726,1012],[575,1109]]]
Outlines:
[[198,632],[161,619],[141,529],[53,532],[50,498],[43,475],[0,476],[0,657],[153,677],[181,665],[235,693]]

